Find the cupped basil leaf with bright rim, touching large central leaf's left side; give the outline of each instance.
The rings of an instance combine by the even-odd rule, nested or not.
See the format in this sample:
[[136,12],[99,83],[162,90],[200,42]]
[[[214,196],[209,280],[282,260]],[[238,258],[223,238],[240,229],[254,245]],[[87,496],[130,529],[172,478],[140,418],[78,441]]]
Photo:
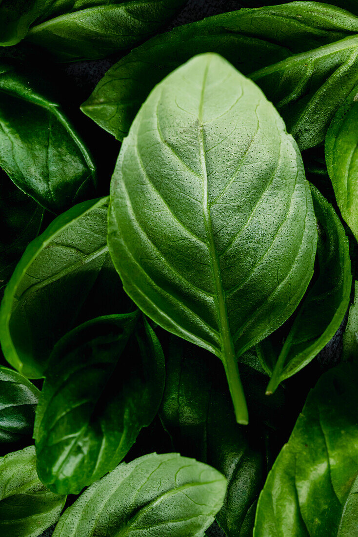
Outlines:
[[29,378],[43,375],[54,345],[74,326],[129,311],[107,250],[107,202],[86,201],[58,216],[28,245],[5,288],[2,349]]

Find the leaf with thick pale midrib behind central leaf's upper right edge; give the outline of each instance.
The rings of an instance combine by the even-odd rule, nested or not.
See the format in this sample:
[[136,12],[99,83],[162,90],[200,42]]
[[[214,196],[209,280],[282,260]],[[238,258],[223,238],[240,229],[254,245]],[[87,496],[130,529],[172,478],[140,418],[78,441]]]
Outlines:
[[299,148],[318,146],[358,82],[358,36],[297,54],[251,78],[279,110]]

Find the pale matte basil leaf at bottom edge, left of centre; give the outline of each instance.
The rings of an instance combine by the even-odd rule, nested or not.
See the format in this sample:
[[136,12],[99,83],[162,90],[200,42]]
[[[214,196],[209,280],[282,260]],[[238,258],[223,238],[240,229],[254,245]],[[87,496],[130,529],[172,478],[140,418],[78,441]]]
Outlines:
[[65,511],[54,537],[199,537],[222,506],[225,490],[226,480],[214,468],[176,453],[152,453],[91,485]]

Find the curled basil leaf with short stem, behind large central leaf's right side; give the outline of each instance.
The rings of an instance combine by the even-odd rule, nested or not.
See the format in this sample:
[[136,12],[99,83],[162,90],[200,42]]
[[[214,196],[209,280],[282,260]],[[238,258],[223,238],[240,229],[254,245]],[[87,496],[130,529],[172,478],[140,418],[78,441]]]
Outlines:
[[332,339],[349,304],[352,274],[348,238],[332,205],[315,187],[311,191],[318,226],[318,276],[294,320],[257,347],[262,365],[271,376],[269,394],[282,380],[307,365]]

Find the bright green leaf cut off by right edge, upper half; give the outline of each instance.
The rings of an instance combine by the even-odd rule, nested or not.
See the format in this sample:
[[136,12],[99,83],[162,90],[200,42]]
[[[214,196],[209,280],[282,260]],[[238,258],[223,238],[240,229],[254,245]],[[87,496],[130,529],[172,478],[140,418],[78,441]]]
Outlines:
[[325,142],[327,169],[338,207],[358,238],[358,85],[335,114]]

